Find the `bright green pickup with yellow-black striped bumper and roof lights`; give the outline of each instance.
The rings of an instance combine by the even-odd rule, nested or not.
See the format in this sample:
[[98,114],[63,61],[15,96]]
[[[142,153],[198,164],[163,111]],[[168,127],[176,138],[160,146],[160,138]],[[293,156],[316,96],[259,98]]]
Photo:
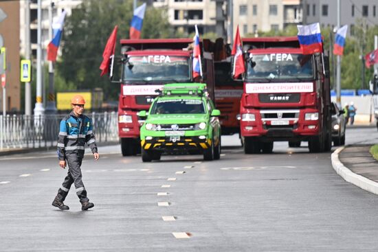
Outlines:
[[210,161],[221,157],[219,115],[203,83],[166,84],[148,111],[139,116],[142,161],[159,160],[162,153],[200,152]]

